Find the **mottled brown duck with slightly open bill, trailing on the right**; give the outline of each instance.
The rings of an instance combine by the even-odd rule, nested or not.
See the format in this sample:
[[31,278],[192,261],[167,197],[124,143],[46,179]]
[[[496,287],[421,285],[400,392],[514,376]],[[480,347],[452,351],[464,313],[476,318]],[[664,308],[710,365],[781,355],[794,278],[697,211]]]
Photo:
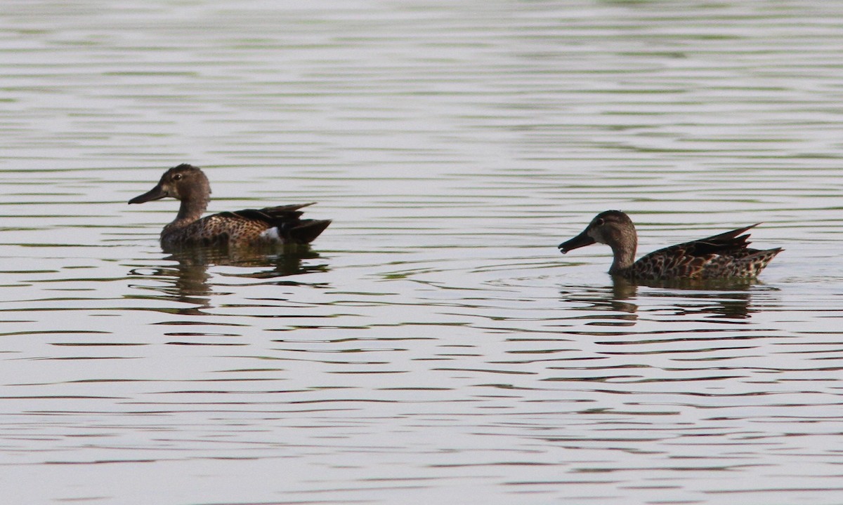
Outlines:
[[577,237],[559,244],[559,249],[564,254],[594,242],[607,244],[615,254],[609,274],[626,279],[751,279],[782,250],[781,247],[764,251],[747,247],[749,234],[741,234],[754,226],[758,225],[665,247],[635,261],[638,246],[635,225],[620,210],[606,210],[595,216]]

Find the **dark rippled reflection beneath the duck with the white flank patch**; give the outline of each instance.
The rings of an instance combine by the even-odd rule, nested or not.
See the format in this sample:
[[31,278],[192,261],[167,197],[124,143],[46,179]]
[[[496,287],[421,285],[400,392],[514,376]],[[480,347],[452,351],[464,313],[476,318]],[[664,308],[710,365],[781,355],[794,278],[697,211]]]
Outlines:
[[242,272],[227,272],[225,276],[228,278],[264,280],[260,284],[301,285],[312,283],[278,279],[298,274],[327,272],[329,268],[326,263],[313,261],[319,258],[319,253],[301,245],[236,251],[193,248],[162,258],[162,264],[158,266],[133,268],[130,275],[163,282],[163,285],[147,284],[136,287],[158,291],[166,298],[196,306],[193,311],[198,311],[210,306],[212,296],[229,294],[220,290],[221,287],[224,289],[224,284],[211,283],[212,274],[208,271],[210,267],[242,267]]

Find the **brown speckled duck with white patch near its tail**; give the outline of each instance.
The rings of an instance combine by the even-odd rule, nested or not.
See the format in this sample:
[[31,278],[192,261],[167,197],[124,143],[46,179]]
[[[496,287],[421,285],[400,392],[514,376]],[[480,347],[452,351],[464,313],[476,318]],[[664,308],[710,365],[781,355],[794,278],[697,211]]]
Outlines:
[[330,220],[300,219],[301,208],[313,204],[245,209],[201,217],[211,199],[211,184],[198,167],[186,163],[170,168],[153,189],[129,200],[142,204],[171,196],[181,200],[179,215],[161,231],[161,247],[254,247],[307,244],[319,237]]

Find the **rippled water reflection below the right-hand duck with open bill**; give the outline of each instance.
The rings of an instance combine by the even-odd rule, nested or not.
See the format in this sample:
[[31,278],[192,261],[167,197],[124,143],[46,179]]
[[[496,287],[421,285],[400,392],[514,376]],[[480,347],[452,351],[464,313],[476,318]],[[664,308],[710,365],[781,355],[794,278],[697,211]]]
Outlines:
[[618,326],[631,326],[642,306],[659,306],[674,316],[748,319],[757,311],[750,302],[752,287],[758,285],[757,281],[734,279],[634,284],[614,278],[611,284],[602,286],[562,286],[560,293],[564,301],[584,303],[587,310],[599,311],[602,324],[612,324],[614,320]]

